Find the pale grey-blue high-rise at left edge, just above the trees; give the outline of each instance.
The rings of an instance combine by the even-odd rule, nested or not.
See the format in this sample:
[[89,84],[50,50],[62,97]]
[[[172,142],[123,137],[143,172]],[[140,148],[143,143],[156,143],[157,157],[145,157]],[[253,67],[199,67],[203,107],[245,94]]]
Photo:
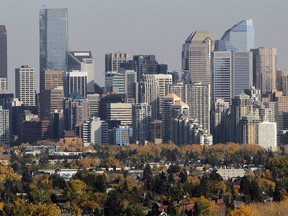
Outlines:
[[10,129],[9,110],[0,106],[0,143],[4,146],[10,145]]

